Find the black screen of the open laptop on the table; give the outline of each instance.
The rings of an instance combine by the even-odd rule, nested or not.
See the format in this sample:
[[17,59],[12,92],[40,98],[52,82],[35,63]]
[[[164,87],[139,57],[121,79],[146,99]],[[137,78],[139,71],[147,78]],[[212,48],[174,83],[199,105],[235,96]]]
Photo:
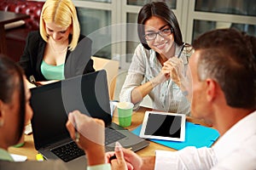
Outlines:
[[106,126],[112,122],[104,70],[32,88],[31,93],[32,131],[37,150],[70,138],[66,128],[70,111],[79,110],[100,118]]

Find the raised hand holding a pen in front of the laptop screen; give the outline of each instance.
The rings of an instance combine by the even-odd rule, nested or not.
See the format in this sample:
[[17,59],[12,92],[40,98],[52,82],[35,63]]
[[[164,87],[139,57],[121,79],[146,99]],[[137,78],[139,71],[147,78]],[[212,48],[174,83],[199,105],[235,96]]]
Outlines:
[[66,126],[71,138],[86,153],[90,166],[105,163],[105,127],[102,120],[73,111],[68,115]]

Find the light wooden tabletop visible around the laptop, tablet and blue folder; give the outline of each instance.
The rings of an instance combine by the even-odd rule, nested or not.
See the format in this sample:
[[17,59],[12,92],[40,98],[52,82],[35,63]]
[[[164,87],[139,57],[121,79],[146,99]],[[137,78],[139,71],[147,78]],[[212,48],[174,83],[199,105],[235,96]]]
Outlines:
[[[137,111],[133,111],[133,115],[131,118],[132,119],[131,126],[128,127],[128,129],[133,130],[136,127],[138,127],[140,124],[142,124],[145,111],[150,111],[150,110],[151,109],[140,107]],[[113,122],[118,123],[118,117],[116,115],[117,115],[117,111],[115,111],[113,114]],[[196,121],[195,119],[192,119],[189,117],[187,118],[187,120],[189,122],[195,122],[195,123],[200,123],[202,125],[206,125],[201,121]],[[154,150],[171,150],[171,151],[173,151],[172,148],[166,147],[161,144],[156,144],[156,143],[150,141],[150,144],[148,145],[148,147],[144,148],[143,150],[138,150],[137,154],[139,156],[154,156]],[[36,160],[36,155],[37,155],[38,151],[35,150],[35,148],[34,148],[32,134],[25,135],[25,145],[24,146],[22,146],[20,148],[10,147],[9,152],[13,153],[13,154],[27,156],[28,160]]]

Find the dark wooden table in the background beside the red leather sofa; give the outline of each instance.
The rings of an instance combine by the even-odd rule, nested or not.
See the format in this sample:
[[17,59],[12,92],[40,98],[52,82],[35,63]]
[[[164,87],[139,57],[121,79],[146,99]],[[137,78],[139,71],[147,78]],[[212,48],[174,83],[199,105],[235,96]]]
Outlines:
[[30,16],[27,14],[15,14],[12,12],[0,11],[0,54],[7,54],[4,25],[17,20],[25,20],[29,17]]

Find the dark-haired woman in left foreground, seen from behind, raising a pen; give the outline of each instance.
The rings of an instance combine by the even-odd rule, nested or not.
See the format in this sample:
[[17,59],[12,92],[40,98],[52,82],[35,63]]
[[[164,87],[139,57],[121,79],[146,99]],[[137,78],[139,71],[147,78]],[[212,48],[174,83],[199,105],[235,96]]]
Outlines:
[[[0,57],[0,72],[0,169],[67,169],[60,160],[14,162],[8,148],[20,141],[25,122],[32,118],[31,94],[23,71],[14,61]],[[69,113],[67,130],[73,139],[76,136],[74,122],[80,134],[76,143],[86,153],[87,168],[110,169],[110,164],[105,164],[104,160],[104,122],[84,116],[79,111]],[[89,127],[91,132],[98,132],[96,136],[83,130]]]

